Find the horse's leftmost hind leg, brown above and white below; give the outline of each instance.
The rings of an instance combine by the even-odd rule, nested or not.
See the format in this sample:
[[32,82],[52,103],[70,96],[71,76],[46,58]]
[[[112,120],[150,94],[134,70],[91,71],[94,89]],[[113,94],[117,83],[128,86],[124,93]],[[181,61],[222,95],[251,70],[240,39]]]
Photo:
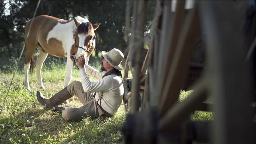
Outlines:
[[24,65],[24,71],[25,71],[25,79],[24,79],[24,87],[28,91],[31,91],[30,86],[29,86],[29,81],[28,81],[28,71],[30,68],[30,62],[31,59],[33,59],[33,53],[34,50],[36,49],[36,45],[33,43],[26,42],[26,57],[25,57],[25,65]]

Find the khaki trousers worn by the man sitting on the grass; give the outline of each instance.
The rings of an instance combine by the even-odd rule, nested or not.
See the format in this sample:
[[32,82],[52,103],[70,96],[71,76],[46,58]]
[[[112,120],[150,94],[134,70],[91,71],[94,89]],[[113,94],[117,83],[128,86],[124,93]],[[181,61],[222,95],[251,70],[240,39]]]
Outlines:
[[79,81],[74,81],[67,86],[67,91],[70,95],[76,95],[79,101],[82,102],[83,106],[79,108],[66,108],[62,117],[68,121],[80,121],[87,116],[92,119],[98,117],[111,117],[111,114],[103,110],[100,105],[97,104],[95,98],[92,97],[93,93],[86,93],[83,91],[82,83]]

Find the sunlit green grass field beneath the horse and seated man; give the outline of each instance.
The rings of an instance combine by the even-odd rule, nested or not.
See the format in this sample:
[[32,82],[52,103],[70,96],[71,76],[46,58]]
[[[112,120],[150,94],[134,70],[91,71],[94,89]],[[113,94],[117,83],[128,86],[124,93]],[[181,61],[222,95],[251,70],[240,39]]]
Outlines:
[[[64,87],[64,65],[43,66],[42,79],[45,90],[42,93],[51,97]],[[3,104],[7,93],[12,71],[0,70],[0,104]],[[20,69],[13,81],[10,95],[0,115],[1,144],[91,144],[91,143],[124,143],[121,133],[125,122],[124,107],[121,105],[114,117],[105,120],[86,118],[80,122],[67,122],[61,113],[45,111],[36,98],[39,86],[36,84],[36,73],[29,76],[31,92],[23,87],[24,72]],[[73,68],[72,81],[80,80],[79,71]],[[181,100],[190,92],[182,92]],[[68,107],[80,107],[82,104],[73,96]],[[209,120],[210,112],[195,112],[192,120]]]

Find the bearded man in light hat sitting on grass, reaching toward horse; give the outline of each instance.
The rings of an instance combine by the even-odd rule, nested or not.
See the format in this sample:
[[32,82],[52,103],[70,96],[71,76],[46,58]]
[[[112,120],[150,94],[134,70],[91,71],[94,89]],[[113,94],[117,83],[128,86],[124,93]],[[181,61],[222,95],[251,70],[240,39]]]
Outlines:
[[[37,92],[37,100],[45,105],[46,109],[55,111],[64,110],[62,117],[68,121],[79,121],[87,116],[92,119],[97,117],[111,117],[116,113],[121,105],[124,95],[124,86],[122,84],[122,65],[124,54],[118,49],[112,49],[109,52],[101,52],[104,59],[102,60],[103,71],[98,71],[88,65],[88,60],[84,56],[78,58],[82,82],[74,81],[60,92],[47,99],[41,92]],[[74,61],[74,55],[70,56]],[[89,59],[89,58],[88,58]],[[91,82],[87,74],[97,82]],[[79,108],[65,108],[58,106],[65,100],[76,95],[83,106]]]

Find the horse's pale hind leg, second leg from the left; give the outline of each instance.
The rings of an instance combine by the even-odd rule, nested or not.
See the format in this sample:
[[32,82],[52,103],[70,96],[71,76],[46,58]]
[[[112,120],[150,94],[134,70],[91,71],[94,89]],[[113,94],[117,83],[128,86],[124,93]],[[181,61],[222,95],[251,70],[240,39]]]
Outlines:
[[39,57],[36,61],[36,72],[37,72],[37,84],[39,84],[40,89],[45,89],[42,81],[42,66],[48,53],[44,52],[42,48],[39,47]]

